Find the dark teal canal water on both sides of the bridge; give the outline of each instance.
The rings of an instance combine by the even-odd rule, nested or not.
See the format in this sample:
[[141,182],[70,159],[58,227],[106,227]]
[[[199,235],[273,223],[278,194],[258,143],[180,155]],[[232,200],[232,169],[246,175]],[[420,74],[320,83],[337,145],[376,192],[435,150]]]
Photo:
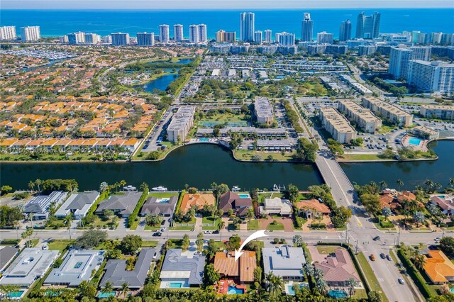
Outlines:
[[[412,189],[424,180],[448,185],[454,177],[454,142],[439,141],[431,144],[440,157],[431,162],[388,162],[342,164],[351,181],[365,184],[369,181],[386,181],[397,186],[397,179],[404,187]],[[174,150],[160,162],[135,163],[1,163],[0,184],[14,189],[27,189],[28,181],[35,179],[76,179],[79,189],[98,189],[101,181],[112,184],[125,179],[128,184],[139,186],[145,182],[150,187],[166,186],[182,189],[184,184],[208,189],[212,182],[240,186],[242,189],[270,188],[273,184],[296,184],[306,189],[321,184],[321,176],[312,164],[281,162],[237,162],[231,152],[217,145],[190,145]]]

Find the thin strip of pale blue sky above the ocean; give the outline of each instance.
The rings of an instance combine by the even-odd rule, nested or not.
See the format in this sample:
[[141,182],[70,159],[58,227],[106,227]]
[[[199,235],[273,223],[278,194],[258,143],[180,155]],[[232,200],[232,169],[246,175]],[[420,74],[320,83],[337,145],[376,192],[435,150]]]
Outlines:
[[1,0],[1,9],[450,8],[453,0]]

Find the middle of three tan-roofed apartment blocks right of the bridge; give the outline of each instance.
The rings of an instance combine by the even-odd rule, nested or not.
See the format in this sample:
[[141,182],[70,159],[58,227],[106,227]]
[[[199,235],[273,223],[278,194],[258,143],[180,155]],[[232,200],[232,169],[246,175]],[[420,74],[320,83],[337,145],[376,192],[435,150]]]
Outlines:
[[377,118],[369,109],[356,104],[354,101],[339,101],[338,110],[347,116],[348,121],[358,125],[364,132],[375,133],[382,126],[380,118]]

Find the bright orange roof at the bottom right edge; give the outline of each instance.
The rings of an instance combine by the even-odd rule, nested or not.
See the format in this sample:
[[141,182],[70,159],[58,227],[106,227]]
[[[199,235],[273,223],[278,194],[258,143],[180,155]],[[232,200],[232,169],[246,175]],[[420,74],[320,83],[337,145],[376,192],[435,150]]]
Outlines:
[[433,283],[446,283],[454,279],[454,264],[441,252],[429,250],[423,269]]

